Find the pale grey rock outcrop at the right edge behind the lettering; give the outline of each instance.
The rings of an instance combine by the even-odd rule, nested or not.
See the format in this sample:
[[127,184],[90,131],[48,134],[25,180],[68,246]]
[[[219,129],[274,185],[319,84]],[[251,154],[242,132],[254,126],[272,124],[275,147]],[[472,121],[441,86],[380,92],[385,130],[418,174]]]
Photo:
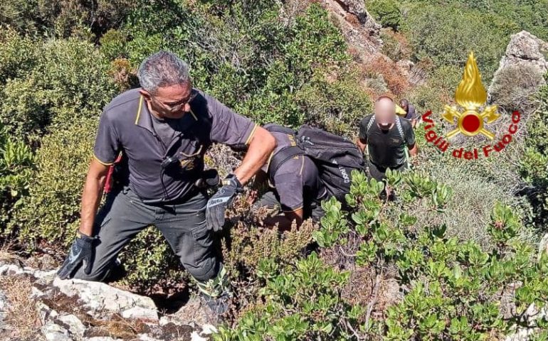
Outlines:
[[527,31],[510,38],[506,53],[492,78],[489,100],[509,111],[530,112],[531,94],[546,84],[548,43]]

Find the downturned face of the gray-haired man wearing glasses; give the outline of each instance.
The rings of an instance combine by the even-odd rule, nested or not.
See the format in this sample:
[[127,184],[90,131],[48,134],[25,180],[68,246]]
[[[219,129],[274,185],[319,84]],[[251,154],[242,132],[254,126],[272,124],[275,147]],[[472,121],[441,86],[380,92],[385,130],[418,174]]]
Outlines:
[[141,93],[149,102],[150,109],[168,119],[180,119],[184,114],[190,112],[189,103],[196,96],[196,92],[192,90],[191,82],[159,87],[154,94],[144,90]]

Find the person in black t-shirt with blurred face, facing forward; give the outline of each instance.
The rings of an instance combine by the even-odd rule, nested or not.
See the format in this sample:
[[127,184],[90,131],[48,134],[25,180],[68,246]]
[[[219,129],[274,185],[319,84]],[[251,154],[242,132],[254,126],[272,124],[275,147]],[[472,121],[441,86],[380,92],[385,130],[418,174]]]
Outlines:
[[358,147],[369,153],[369,176],[378,181],[385,178],[386,169],[403,171],[408,168],[406,148],[416,156],[415,133],[411,122],[396,116],[396,107],[390,97],[375,101],[374,114],[359,124]]

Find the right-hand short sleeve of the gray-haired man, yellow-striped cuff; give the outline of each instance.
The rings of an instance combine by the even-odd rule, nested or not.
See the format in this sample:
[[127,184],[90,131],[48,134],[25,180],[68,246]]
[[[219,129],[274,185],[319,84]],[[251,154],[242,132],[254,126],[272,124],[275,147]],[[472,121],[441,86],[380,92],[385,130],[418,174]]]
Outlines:
[[228,146],[249,144],[257,125],[242,115],[236,114],[218,100],[206,95],[211,124],[211,141]]

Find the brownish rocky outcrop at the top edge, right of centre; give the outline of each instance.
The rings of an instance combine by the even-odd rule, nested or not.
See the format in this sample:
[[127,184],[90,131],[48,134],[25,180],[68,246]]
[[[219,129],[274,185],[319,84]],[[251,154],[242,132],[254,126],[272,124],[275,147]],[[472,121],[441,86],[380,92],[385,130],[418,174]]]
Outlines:
[[348,45],[355,50],[354,58],[364,60],[379,50],[381,26],[369,15],[364,1],[322,0],[322,4],[330,11]]

